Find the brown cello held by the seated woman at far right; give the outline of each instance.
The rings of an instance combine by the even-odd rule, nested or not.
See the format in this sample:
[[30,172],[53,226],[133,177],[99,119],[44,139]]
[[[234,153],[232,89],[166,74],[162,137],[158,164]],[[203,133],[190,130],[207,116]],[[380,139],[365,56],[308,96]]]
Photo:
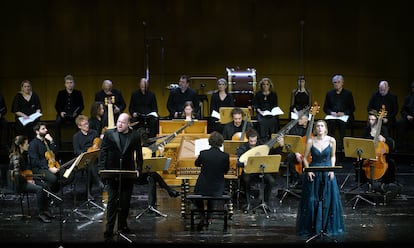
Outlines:
[[388,169],[386,154],[389,153],[389,147],[387,143],[378,140],[379,135],[381,134],[382,118],[384,118],[386,114],[385,106],[382,105],[382,108],[378,113],[377,126],[375,127],[374,145],[376,159],[367,159],[362,164],[365,176],[371,180],[380,179]]

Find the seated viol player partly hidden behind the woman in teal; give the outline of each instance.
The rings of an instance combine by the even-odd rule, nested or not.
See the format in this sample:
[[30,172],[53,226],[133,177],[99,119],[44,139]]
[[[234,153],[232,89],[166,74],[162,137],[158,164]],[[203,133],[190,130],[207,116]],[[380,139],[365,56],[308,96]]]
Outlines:
[[[295,126],[293,126],[288,134],[290,135],[298,135],[301,137],[306,137],[306,131],[308,128],[308,122],[309,122],[309,116],[308,115],[302,115]],[[288,170],[290,173],[290,183],[292,183],[294,186],[300,185],[302,183],[302,177],[300,176],[300,172],[302,170],[302,159],[303,154],[300,154],[299,152],[287,152],[286,154],[286,162],[288,165]],[[298,166],[299,165],[299,166]],[[300,167],[300,168],[297,168]],[[298,171],[299,169],[299,171]]]

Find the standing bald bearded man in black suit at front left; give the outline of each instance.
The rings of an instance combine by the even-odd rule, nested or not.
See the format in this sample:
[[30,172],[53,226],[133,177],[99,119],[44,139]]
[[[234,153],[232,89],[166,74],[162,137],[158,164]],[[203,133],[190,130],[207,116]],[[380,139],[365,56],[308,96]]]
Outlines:
[[[136,170],[139,175],[143,164],[141,139],[139,133],[131,130],[129,125],[130,116],[127,113],[122,113],[118,117],[116,128],[108,129],[105,132],[101,144],[100,164],[106,170]],[[107,179],[108,206],[104,232],[105,241],[113,240],[117,217],[118,231],[124,234],[132,233],[128,228],[127,218],[136,179],[122,177],[121,185],[119,185],[119,178],[114,176]],[[118,207],[120,207],[119,212]]]

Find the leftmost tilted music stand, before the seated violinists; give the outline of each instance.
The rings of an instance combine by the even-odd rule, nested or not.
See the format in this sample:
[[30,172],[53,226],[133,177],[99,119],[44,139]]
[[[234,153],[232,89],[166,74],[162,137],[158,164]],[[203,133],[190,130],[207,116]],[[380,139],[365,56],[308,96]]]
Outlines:
[[[85,218],[87,218],[87,219],[89,219],[91,221],[93,221],[94,218],[93,217],[89,217],[86,214],[82,213],[80,211],[80,208],[81,207],[93,205],[94,207],[100,209],[102,212],[105,211],[105,208],[99,206],[98,204],[96,204],[95,202],[93,202],[92,199],[89,198],[89,195],[90,195],[89,180],[90,180],[90,176],[91,175],[90,175],[90,173],[88,171],[88,167],[93,165],[93,163],[95,162],[95,160],[98,158],[98,155],[99,155],[99,150],[81,153],[76,158],[76,160],[73,162],[73,164],[71,166],[71,168],[77,167],[78,170],[85,169],[86,170],[86,177],[87,177],[86,178],[86,198],[87,198],[87,200],[85,202],[83,202],[82,204],[80,204],[77,208],[73,209],[73,212],[74,213],[77,213],[77,214],[79,214],[79,215],[81,215],[81,216],[83,216],[83,217],[85,217]],[[70,170],[70,169],[68,169],[68,170]],[[69,171],[69,173],[70,173],[70,171]],[[65,174],[63,176],[66,177],[66,178],[69,177],[69,175],[67,175],[66,172],[65,172]]]

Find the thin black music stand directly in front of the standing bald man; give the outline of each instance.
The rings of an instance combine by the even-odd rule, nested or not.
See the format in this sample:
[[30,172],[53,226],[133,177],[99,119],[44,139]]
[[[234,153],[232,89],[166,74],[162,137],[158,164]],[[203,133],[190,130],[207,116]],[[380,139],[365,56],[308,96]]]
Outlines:
[[101,175],[102,179],[107,179],[107,178],[114,178],[114,177],[118,177],[118,199],[117,199],[117,203],[118,203],[118,207],[117,207],[117,214],[116,214],[116,221],[115,221],[115,227],[116,227],[116,233],[118,235],[118,237],[122,237],[124,238],[126,241],[128,241],[129,243],[132,243],[132,240],[130,238],[128,238],[125,234],[123,234],[119,228],[119,214],[121,211],[121,185],[122,185],[122,179],[136,179],[138,177],[137,171],[135,170],[123,170],[122,169],[122,159],[120,159],[119,162],[119,170],[100,170],[99,174]]

